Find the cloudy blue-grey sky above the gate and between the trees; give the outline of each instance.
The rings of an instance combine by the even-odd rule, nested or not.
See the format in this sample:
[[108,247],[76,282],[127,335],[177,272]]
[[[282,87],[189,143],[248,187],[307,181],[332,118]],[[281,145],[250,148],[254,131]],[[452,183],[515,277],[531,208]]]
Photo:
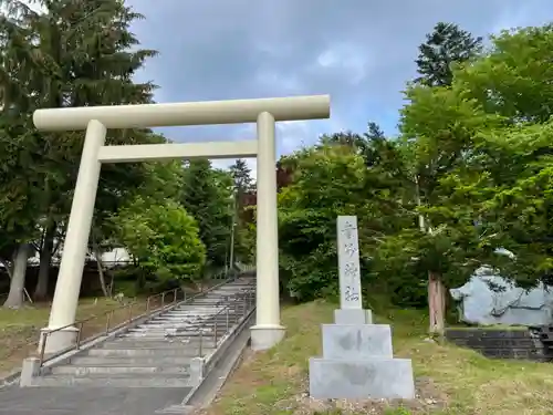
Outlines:
[[[394,134],[417,46],[438,21],[477,35],[553,20],[552,0],[127,0],[160,54],[138,74],[158,102],[330,94],[332,118],[281,123],[280,154],[323,133]],[[246,139],[253,125],[171,127],[178,142]],[[251,163],[254,169],[254,160]]]

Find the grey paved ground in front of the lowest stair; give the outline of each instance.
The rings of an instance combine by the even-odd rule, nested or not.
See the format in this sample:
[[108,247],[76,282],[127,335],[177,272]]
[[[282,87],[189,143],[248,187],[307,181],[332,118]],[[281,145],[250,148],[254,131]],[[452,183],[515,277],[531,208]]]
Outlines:
[[178,405],[190,388],[0,388],[0,415],[154,415]]

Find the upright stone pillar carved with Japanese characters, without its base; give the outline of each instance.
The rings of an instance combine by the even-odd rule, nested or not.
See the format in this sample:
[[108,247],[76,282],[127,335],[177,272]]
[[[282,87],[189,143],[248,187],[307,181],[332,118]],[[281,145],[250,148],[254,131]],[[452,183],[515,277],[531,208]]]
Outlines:
[[356,216],[338,216],[337,239],[340,307],[342,309],[362,309]]

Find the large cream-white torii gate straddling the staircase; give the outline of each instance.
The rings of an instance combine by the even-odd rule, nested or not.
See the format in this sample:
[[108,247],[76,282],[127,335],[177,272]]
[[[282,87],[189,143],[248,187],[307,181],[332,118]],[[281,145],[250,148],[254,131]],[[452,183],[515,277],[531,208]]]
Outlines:
[[[77,329],[73,324],[102,163],[171,158],[258,157],[257,321],[251,328],[251,346],[253,350],[265,350],[282,340],[284,328],[280,323],[279,299],[275,122],[328,118],[330,101],[328,95],[313,95],[35,111],[33,122],[38,129],[86,129],[50,321],[41,335],[41,339],[48,339],[45,352],[62,351],[76,341]],[[240,123],[257,123],[258,139],[222,143],[104,145],[107,128]],[[58,331],[44,335],[53,330]]]

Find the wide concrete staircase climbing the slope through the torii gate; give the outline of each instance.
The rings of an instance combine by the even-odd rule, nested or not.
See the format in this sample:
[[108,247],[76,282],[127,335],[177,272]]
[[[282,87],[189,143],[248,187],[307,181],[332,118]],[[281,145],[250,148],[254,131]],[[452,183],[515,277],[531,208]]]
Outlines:
[[254,304],[254,279],[239,278],[181,302],[117,336],[43,367],[33,386],[191,387],[204,364]]

